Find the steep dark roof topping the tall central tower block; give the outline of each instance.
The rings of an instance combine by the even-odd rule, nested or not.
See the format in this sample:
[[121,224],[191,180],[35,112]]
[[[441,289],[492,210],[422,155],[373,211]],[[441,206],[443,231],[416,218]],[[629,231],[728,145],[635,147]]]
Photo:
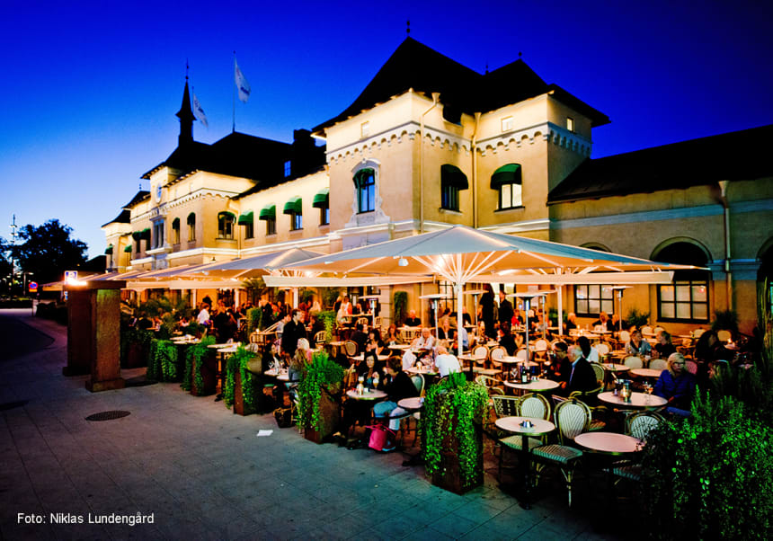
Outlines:
[[546,84],[521,59],[481,75],[413,38],[406,38],[357,99],[341,114],[315,127],[314,131],[320,132],[378,103],[388,102],[393,96],[405,93],[411,88],[426,95],[439,92],[440,102],[468,114],[475,111],[493,111],[511,103],[555,91],[556,99],[566,100],[567,105],[587,115],[593,126],[609,122],[606,115],[572,94],[558,86]]

